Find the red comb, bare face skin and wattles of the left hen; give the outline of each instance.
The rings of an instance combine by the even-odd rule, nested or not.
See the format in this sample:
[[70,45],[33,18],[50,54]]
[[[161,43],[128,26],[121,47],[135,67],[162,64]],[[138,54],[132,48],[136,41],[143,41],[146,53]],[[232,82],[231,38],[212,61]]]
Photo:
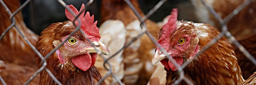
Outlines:
[[[81,22],[81,30],[83,30],[81,32],[84,32],[86,37],[88,37],[91,42],[100,41],[100,33],[96,26],[97,21],[94,22],[94,15],[92,15],[92,17],[90,17],[89,12],[87,12],[85,14],[85,11],[83,11],[83,9],[85,9],[85,5],[82,4],[81,9],[79,11],[73,5],[69,5],[67,7],[69,7],[71,9],[71,11],[73,11],[73,13],[76,16],[79,13],[81,13],[81,15],[79,15],[79,17],[78,17],[78,19]],[[69,12],[69,10],[67,8],[65,9],[65,15],[69,20],[71,20],[71,21],[75,20],[75,16],[73,16],[72,13]],[[75,20],[75,25],[79,26],[78,20]],[[66,38],[67,38],[67,36],[63,37],[62,41],[64,41]],[[73,36],[73,38],[75,38],[75,37]],[[90,67],[94,66],[94,64],[96,62],[97,54],[96,53],[88,53],[87,51],[85,51],[84,53],[81,53],[80,52],[81,50],[84,50],[85,48],[92,48],[92,46],[87,40],[79,40],[79,38],[75,38],[75,39],[77,40],[76,44],[71,45],[71,44],[68,44],[67,42],[65,42],[64,47],[67,50],[69,50],[70,52],[77,53],[77,55],[71,59],[71,62],[77,68],[79,68],[83,71],[86,71]],[[61,52],[59,50],[56,51],[58,58],[60,59],[61,63],[63,64],[63,63],[65,63],[65,61],[67,61],[67,58],[65,58],[64,55],[61,56],[60,53]]]

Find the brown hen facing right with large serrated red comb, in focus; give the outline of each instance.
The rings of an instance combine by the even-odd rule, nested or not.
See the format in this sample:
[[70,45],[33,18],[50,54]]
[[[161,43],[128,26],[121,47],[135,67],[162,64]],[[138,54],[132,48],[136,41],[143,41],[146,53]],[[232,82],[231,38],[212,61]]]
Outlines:
[[[94,22],[94,16],[92,15],[92,17],[90,17],[89,12],[85,14],[85,11],[82,11],[85,5],[82,4],[80,11],[77,11],[73,5],[67,7],[69,7],[75,15],[82,12],[78,17],[81,21],[82,31],[77,31],[65,41],[69,34],[76,29],[71,22],[75,17],[65,9],[65,15],[71,21],[57,22],[48,26],[42,31],[41,36],[38,38],[36,48],[43,56],[46,56],[50,51],[60,45],[61,42],[65,42],[54,54],[46,59],[46,68],[48,68],[63,85],[94,85],[98,83],[101,78],[100,73],[94,66],[97,53],[82,32],[85,33],[96,49],[102,52],[102,54],[109,55],[109,50],[100,41],[99,30],[96,26],[97,21]],[[75,24],[78,26],[77,21]],[[35,59],[40,68],[42,65],[40,57],[35,55]],[[56,84],[57,83],[55,83],[45,70],[40,72],[40,85]],[[100,84],[105,85],[106,83],[103,81]]]

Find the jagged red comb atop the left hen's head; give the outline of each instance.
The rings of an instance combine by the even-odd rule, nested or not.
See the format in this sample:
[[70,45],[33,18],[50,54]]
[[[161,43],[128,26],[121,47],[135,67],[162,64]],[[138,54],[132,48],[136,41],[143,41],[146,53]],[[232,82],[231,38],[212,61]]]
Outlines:
[[[69,5],[67,7],[69,7],[71,11],[73,11],[73,13],[77,16],[81,11],[83,11],[83,9],[85,9],[85,4],[82,4],[79,11],[77,11],[77,9],[73,5]],[[72,13],[69,12],[67,7],[65,9],[65,15],[69,20],[73,22],[73,20],[75,19],[75,16],[73,16]],[[92,17],[90,17],[90,13],[88,11],[86,14],[85,14],[85,11],[83,11],[78,18],[81,22],[81,29],[85,32],[87,37],[93,41],[100,40],[99,28],[97,28],[96,26],[98,21],[94,22],[94,16],[92,15]],[[75,20],[75,24],[78,26],[79,24],[78,20]]]

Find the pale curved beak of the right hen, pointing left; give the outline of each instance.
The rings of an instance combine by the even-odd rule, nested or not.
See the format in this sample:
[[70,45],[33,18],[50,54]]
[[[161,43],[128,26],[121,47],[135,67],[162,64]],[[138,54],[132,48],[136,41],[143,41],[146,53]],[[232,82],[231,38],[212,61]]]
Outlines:
[[167,58],[166,55],[164,54],[159,54],[158,50],[156,50],[156,53],[154,54],[153,58],[152,58],[152,66],[156,65],[156,63],[158,63],[159,61],[163,60]]

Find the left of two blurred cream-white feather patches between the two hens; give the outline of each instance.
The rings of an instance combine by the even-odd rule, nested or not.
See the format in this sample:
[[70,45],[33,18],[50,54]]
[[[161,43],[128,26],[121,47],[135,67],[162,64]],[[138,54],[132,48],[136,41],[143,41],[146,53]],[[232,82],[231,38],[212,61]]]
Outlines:
[[[120,20],[107,20],[100,25],[99,28],[101,41],[108,47],[111,55],[105,55],[105,58],[109,58],[120,50],[125,44],[126,30],[123,22]],[[123,79],[124,76],[124,63],[123,63],[123,50],[115,55],[108,61],[112,66],[112,73],[117,76],[118,79]],[[103,66],[104,60],[98,56],[96,59],[95,67],[98,68],[100,74],[105,76],[108,70]],[[106,67],[108,65],[106,64]],[[108,67],[109,68],[109,67]],[[118,85],[118,82],[110,75],[105,79],[107,85]]]

